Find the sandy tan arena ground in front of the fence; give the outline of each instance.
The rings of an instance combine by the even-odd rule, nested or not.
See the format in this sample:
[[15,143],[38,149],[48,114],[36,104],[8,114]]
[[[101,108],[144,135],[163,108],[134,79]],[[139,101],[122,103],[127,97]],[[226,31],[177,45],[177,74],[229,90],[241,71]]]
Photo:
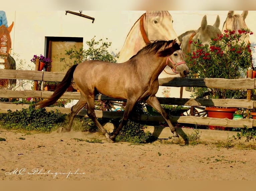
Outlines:
[[[0,180],[255,180],[256,150],[108,143],[97,133],[0,129]],[[19,139],[24,137],[25,139]],[[103,143],[74,138],[99,138]]]

